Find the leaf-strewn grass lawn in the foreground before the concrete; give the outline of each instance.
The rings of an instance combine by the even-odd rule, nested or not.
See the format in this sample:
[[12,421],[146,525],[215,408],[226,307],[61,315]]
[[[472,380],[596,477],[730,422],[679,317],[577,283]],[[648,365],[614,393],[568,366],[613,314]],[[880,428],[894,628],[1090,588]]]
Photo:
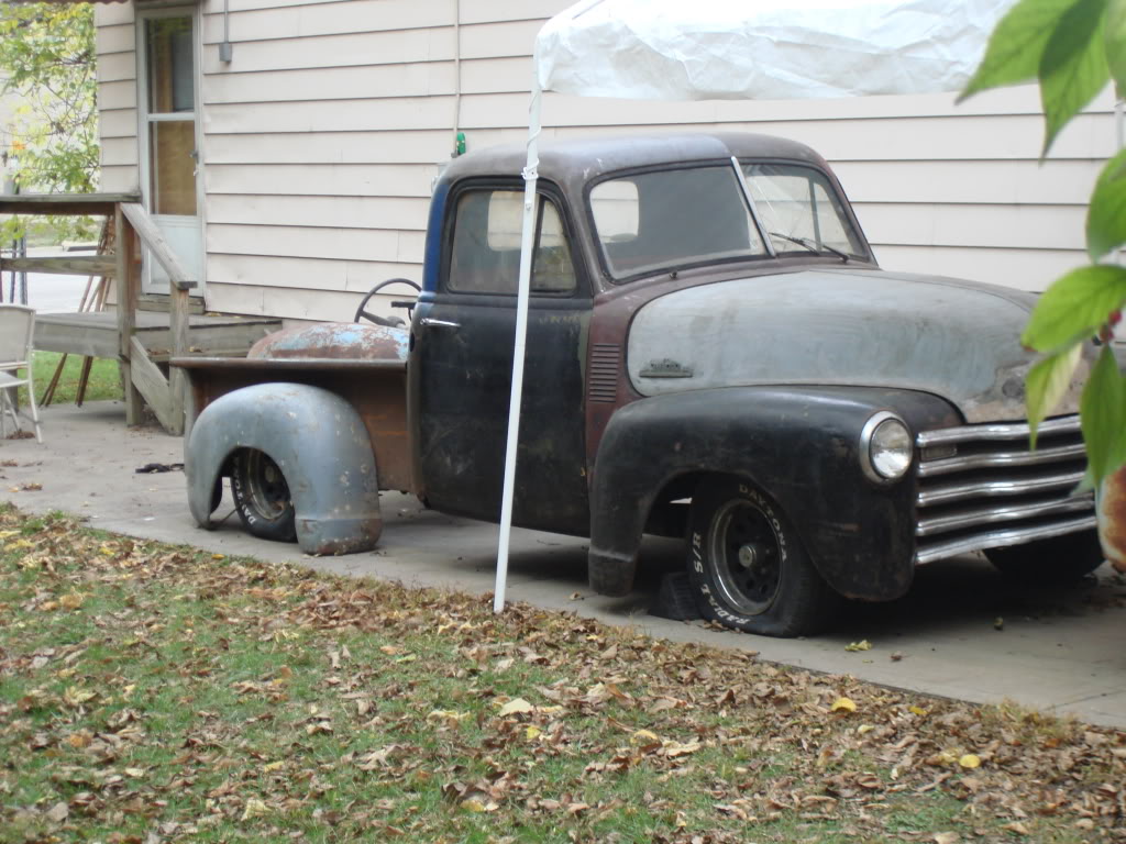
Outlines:
[[6,844],[1105,842],[1124,772],[1116,730],[0,505]]

